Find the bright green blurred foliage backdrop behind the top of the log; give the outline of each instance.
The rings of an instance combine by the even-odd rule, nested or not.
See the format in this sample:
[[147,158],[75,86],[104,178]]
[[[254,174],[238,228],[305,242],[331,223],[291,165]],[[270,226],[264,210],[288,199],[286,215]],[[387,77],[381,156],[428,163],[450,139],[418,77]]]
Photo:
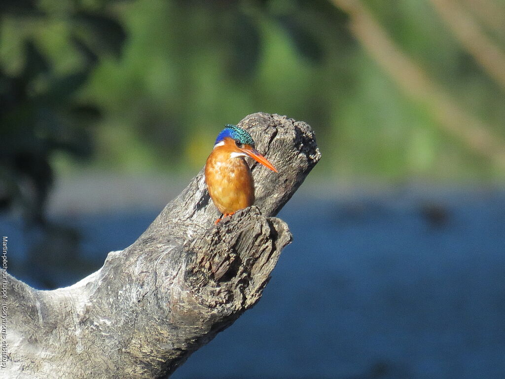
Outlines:
[[[503,135],[505,97],[424,0],[370,2],[399,46]],[[401,92],[328,1],[131,2],[123,59],[93,72],[105,119],[96,162],[130,170],[205,162],[224,123],[256,112],[309,122],[330,178],[489,180],[502,173]]]

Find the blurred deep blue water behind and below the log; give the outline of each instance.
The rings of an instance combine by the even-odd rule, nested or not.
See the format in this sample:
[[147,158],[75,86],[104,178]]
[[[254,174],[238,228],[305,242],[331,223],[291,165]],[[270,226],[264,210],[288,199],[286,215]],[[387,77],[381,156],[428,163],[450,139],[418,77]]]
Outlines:
[[[99,266],[158,212],[60,221]],[[505,193],[300,195],[279,217],[294,239],[261,301],[174,379],[505,377]],[[21,260],[19,221],[0,227]]]

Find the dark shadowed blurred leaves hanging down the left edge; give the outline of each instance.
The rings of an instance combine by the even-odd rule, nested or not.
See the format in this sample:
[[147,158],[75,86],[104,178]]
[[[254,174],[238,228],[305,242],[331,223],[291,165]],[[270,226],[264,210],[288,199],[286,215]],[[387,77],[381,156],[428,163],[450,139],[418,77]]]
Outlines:
[[102,112],[80,91],[100,57],[120,57],[126,38],[107,3],[0,3],[0,208],[21,211],[34,278],[46,288],[58,267],[90,270],[77,254],[79,233],[48,221],[45,205],[55,156],[93,153]]

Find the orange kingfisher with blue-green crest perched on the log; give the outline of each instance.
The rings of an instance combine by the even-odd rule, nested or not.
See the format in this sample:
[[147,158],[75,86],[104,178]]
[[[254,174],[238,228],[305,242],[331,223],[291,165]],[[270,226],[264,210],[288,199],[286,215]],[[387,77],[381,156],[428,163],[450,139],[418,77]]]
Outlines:
[[231,216],[254,203],[254,181],[244,157],[251,157],[277,172],[255,148],[255,142],[244,129],[227,124],[218,134],[214,149],[205,164],[205,182],[214,205],[222,218]]

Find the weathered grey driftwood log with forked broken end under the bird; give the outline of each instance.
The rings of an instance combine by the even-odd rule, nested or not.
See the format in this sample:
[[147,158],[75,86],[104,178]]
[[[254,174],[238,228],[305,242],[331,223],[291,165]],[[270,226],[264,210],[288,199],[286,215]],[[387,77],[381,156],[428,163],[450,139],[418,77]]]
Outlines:
[[291,242],[271,216],[320,153],[304,122],[256,113],[239,125],[279,170],[253,165],[257,206],[215,226],[201,170],[133,245],[75,285],[37,291],[9,276],[2,378],[168,377],[256,304]]

